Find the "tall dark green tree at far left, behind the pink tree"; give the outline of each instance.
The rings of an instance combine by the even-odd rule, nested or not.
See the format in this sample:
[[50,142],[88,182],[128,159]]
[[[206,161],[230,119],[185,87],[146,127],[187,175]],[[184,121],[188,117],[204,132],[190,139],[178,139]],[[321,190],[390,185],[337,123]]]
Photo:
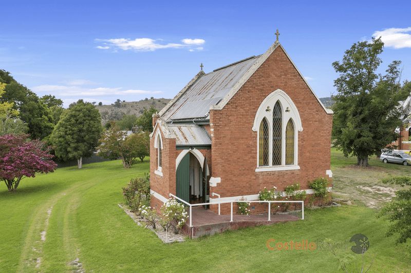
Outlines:
[[27,124],[30,137],[43,139],[50,135],[54,126],[46,104],[5,70],[0,70],[0,83],[6,83],[1,101],[13,103],[13,109],[20,112],[20,119]]

